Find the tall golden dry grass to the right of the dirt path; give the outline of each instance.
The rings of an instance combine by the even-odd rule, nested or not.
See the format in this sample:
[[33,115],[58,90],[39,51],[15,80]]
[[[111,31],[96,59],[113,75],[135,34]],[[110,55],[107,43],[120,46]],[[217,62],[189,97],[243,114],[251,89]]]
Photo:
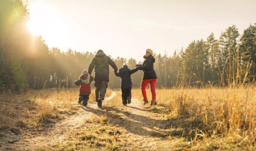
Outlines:
[[[256,143],[256,88],[157,89],[158,106],[164,106],[169,127],[183,129],[196,140],[224,138],[236,145]],[[151,93],[147,90],[148,100]],[[141,100],[140,89],[133,95]]]

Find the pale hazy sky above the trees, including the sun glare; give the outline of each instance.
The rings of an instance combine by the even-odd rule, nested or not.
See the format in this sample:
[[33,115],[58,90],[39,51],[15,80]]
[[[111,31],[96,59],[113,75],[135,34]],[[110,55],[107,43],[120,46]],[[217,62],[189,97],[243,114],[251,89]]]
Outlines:
[[256,0],[30,0],[27,27],[49,48],[143,60],[172,55],[193,40],[256,23]]

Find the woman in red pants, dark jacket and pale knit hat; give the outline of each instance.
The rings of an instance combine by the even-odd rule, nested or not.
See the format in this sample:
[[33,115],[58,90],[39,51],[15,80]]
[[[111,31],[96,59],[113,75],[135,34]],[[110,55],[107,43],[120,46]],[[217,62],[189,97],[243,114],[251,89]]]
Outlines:
[[146,87],[148,84],[150,84],[150,90],[152,93],[152,100],[151,100],[151,106],[157,105],[156,102],[156,83],[157,83],[157,74],[154,71],[154,62],[155,59],[152,56],[153,51],[151,49],[146,50],[146,54],[143,57],[145,60],[143,64],[137,64],[136,69],[143,70],[143,80],[141,81],[141,91],[144,98],[144,105],[148,103],[147,93],[146,93]]

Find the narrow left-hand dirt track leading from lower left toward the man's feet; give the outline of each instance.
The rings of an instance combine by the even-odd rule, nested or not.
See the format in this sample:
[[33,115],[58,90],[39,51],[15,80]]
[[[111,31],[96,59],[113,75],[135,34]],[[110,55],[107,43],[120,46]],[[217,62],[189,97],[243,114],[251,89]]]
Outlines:
[[[116,92],[112,92],[109,97],[105,98],[104,102],[111,100],[115,96]],[[87,107],[98,110],[96,102],[88,103]],[[26,136],[24,140],[17,141],[12,148],[19,148],[18,150],[31,150],[31,148],[47,145],[49,142],[65,141],[67,133],[79,129],[83,124],[82,121],[84,119],[90,119],[92,115],[92,112],[84,112],[82,108],[79,108],[75,115],[61,120],[59,123],[52,126],[52,128],[46,129],[40,135]]]

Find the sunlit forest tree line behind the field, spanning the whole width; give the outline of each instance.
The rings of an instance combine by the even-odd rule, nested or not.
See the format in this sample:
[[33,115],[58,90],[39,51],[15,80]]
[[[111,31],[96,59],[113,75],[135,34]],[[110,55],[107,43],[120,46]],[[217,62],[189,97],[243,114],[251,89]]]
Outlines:
[[[95,52],[48,48],[41,36],[26,29],[29,11],[22,0],[2,0],[0,4],[0,91],[75,87],[73,81],[87,69]],[[108,52],[106,52],[108,54]],[[111,57],[111,56],[110,56]],[[256,24],[242,35],[232,25],[220,37],[194,40],[172,56],[154,54],[157,87],[234,87],[255,82]],[[112,58],[112,57],[111,57]],[[113,58],[112,58],[113,59]],[[117,57],[117,67],[134,68],[135,59]],[[132,75],[140,87],[142,72]],[[120,80],[110,70],[111,88]]]

